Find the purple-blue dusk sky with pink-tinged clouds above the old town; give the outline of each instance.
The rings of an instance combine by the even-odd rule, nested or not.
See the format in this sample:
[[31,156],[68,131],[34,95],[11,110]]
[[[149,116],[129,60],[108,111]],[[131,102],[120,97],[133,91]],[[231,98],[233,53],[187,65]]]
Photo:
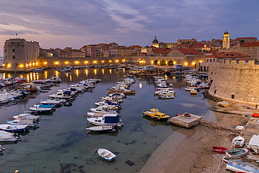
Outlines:
[[7,39],[41,48],[96,43],[151,46],[259,34],[258,0],[8,0],[0,2],[0,56]]

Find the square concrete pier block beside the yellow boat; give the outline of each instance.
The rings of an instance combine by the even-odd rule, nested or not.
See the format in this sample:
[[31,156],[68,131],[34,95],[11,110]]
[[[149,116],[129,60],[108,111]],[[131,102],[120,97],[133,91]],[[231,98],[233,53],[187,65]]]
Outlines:
[[175,116],[169,120],[172,125],[177,125],[179,127],[191,128],[200,123],[202,119],[201,116],[196,116],[190,113],[184,113],[179,116]]

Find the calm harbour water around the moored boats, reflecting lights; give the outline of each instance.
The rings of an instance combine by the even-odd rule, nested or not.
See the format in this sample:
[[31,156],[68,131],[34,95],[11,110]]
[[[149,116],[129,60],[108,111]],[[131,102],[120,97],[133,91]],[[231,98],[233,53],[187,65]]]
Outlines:
[[[68,74],[48,70],[41,74],[16,74],[27,78],[27,81],[60,76],[62,83],[49,92],[39,92],[22,99],[18,104],[1,106],[0,123],[6,123],[6,118],[28,111],[29,107],[39,100],[47,99],[47,95],[58,89],[78,83],[86,78],[102,78],[96,88],[78,95],[71,104],[56,109],[52,115],[42,116],[36,130],[24,134],[17,144],[3,145],[6,148],[0,155],[0,172],[138,172],[147,162],[153,151],[180,127],[159,123],[143,118],[142,111],[153,106],[160,111],[174,116],[176,113],[194,113],[206,120],[216,122],[216,114],[210,109],[213,102],[203,99],[199,92],[196,97],[190,97],[190,92],[183,89],[186,82],[181,76],[167,76],[169,83],[174,84],[176,97],[162,100],[153,95],[155,85],[153,79],[136,78],[131,90],[136,95],[124,99],[121,119],[125,124],[118,132],[86,134],[88,126],[84,115],[101,101],[100,97],[107,95],[117,81],[122,81],[127,71],[114,69],[80,69]],[[0,74],[0,78],[15,76],[15,74]],[[177,139],[176,139],[177,140]],[[107,162],[99,158],[94,151],[107,148],[116,153],[117,158]],[[126,161],[134,162],[127,165]]]

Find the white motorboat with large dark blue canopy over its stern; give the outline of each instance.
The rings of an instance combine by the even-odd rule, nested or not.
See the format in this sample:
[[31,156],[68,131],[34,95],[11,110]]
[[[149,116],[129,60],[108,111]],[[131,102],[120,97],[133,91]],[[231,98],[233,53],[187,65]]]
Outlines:
[[102,117],[87,118],[88,122],[93,125],[117,125],[123,126],[123,121],[120,120],[118,113],[107,113]]

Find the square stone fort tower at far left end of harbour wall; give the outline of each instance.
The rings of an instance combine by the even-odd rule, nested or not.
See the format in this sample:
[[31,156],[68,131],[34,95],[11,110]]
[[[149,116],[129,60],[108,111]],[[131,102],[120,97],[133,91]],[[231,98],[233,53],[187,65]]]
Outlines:
[[22,70],[37,67],[39,44],[25,39],[8,39],[4,43],[3,56],[6,70]]

